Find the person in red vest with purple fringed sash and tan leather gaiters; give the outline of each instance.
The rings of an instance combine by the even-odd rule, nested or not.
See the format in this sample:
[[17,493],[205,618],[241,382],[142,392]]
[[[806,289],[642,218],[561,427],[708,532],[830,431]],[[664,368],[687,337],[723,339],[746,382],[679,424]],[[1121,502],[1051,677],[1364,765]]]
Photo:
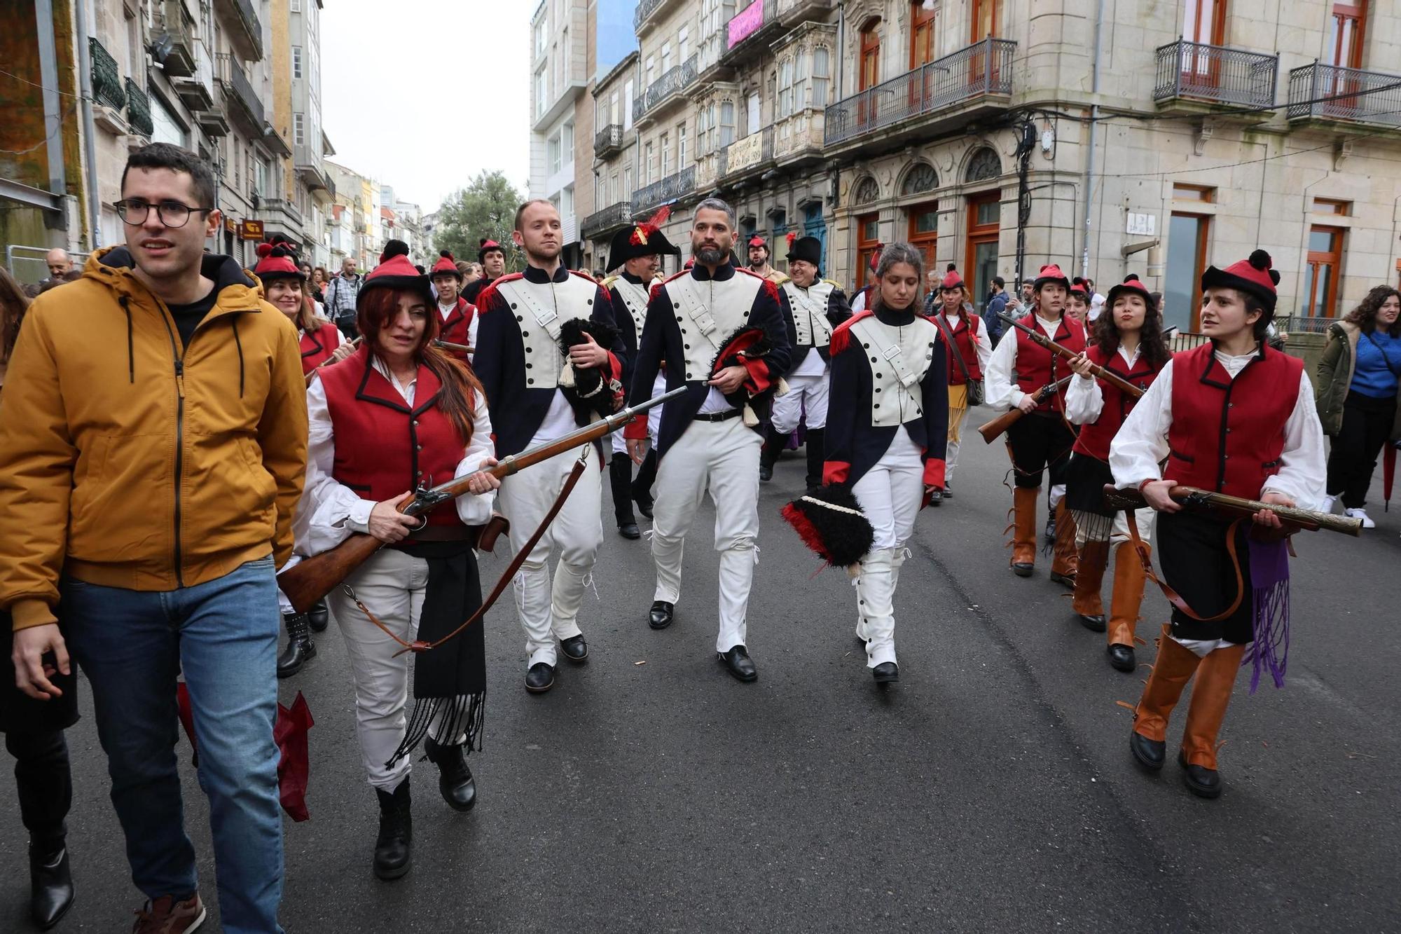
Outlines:
[[1222,792],[1216,736],[1237,669],[1254,662],[1252,691],[1262,669],[1283,686],[1289,550],[1272,512],[1234,522],[1184,509],[1168,491],[1181,484],[1302,509],[1324,498],[1313,386],[1303,360],[1265,337],[1279,282],[1272,265],[1255,250],[1202,273],[1201,327],[1210,341],[1173,356],[1110,443],[1114,482],[1136,487],[1159,510],[1163,579],[1191,610],[1175,604],[1163,627],[1129,750],[1145,769],[1163,767],[1168,717],[1195,677],[1177,762],[1202,798]]

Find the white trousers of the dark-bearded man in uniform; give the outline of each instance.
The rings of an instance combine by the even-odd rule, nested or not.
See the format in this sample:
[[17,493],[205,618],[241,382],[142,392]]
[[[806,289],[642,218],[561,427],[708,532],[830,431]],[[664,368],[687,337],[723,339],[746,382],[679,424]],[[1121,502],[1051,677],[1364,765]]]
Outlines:
[[759,537],[759,447],[764,439],[744,419],[692,422],[657,467],[651,558],[657,565],[654,600],[681,596],[681,558],[686,533],[706,491],[715,503],[715,550],[720,553],[720,631],[717,652],[745,645],[745,611]]

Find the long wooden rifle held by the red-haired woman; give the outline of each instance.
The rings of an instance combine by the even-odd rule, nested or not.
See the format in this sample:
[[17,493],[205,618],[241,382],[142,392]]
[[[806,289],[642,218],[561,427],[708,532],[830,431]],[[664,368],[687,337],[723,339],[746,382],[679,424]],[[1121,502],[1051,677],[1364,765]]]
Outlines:
[[[511,454],[495,467],[488,467],[482,473],[502,478],[510,477],[511,474],[538,464],[542,460],[549,460],[551,457],[563,454],[565,452],[573,450],[580,445],[587,445],[598,438],[604,438],[605,435],[609,435],[630,422],[639,414],[646,412],[653,405],[660,405],[661,402],[672,400],[685,391],[685,386],[678,386],[668,393],[654,395],[646,402],[625,408],[621,412],[614,412],[608,418],[586,425],[584,428],[570,432],[563,438],[531,447],[520,454]],[[457,499],[462,494],[468,492],[469,478],[471,474],[467,477],[457,477],[433,488],[420,487],[413,494],[412,499],[406,499],[399,503],[398,510],[406,516],[425,516],[437,506],[451,502],[453,499]],[[492,516],[492,520],[482,526],[476,547],[482,551],[490,551],[496,537],[504,529],[506,520],[500,516]],[[304,558],[279,574],[277,586],[287,596],[287,600],[291,603],[291,609],[294,611],[305,613],[312,607],[312,604],[315,604],[317,600],[331,593],[336,585],[350,576],[356,568],[368,561],[370,557],[382,547],[384,543],[368,533],[352,533],[349,539],[338,544],[335,548],[328,548],[321,554]]]

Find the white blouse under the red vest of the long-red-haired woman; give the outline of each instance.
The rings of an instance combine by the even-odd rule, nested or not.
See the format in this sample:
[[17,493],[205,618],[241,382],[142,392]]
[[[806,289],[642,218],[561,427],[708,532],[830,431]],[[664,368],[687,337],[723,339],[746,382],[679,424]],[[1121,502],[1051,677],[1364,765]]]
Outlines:
[[[374,369],[389,380],[406,405],[413,405],[417,380],[410,380],[408,386],[403,386],[378,358],[374,359]],[[298,554],[319,554],[349,539],[352,532],[368,532],[370,510],[374,509],[375,501],[361,499],[360,494],[336,482],[331,475],[336,446],[331,426],[331,410],[326,407],[326,388],[319,379],[312,380],[307,388],[307,415],[311,426],[307,439],[307,484],[293,526],[297,539],[296,551]],[[476,473],[482,468],[483,461],[495,454],[495,450],[486,400],[478,394],[476,405],[472,410],[472,442],[462,450],[462,460],[458,461],[453,478]],[[447,478],[434,477],[433,480],[443,482]],[[457,515],[469,526],[483,524],[492,516],[495,499],[496,491],[458,496],[455,501]]]

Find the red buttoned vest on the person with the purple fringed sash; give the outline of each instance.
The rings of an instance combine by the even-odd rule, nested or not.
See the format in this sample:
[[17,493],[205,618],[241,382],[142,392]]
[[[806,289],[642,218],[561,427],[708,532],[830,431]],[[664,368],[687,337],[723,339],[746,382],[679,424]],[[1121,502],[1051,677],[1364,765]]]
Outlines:
[[1203,344],[1173,356],[1171,453],[1164,477],[1188,487],[1259,498],[1279,473],[1285,424],[1304,362],[1268,346],[1236,379]]

